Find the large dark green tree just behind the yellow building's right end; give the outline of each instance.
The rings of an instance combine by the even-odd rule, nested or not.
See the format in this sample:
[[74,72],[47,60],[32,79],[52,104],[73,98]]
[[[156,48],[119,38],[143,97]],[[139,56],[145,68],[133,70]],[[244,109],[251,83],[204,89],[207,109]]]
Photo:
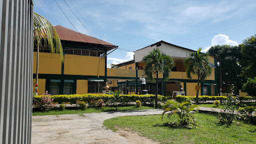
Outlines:
[[[241,60],[240,46],[230,45],[215,45],[211,46],[207,51],[208,54],[216,56],[217,60],[221,59],[221,81],[225,85],[235,85],[238,89],[242,87]],[[219,68],[217,67],[217,75],[219,75]],[[217,76],[217,85],[219,87],[219,76]]]

